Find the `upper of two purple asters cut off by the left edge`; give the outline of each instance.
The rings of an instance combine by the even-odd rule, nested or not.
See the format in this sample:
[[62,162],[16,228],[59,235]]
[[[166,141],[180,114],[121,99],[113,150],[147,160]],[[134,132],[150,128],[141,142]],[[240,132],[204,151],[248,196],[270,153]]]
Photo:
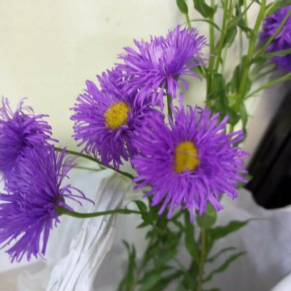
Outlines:
[[2,98],[0,108],[0,174],[8,178],[11,169],[17,164],[26,147],[48,145],[56,141],[50,137],[51,127],[43,117],[34,115],[31,107],[23,106],[21,100],[16,112],[10,108],[7,98]]

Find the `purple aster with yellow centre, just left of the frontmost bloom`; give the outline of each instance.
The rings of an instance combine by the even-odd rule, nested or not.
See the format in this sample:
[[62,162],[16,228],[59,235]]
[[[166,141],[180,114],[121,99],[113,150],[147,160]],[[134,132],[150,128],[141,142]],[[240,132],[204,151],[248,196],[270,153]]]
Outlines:
[[103,72],[97,76],[101,89],[92,81],[87,81],[87,89],[81,94],[72,110],[75,121],[78,146],[84,145],[87,154],[93,153],[101,162],[118,168],[124,160],[131,159],[137,153],[132,138],[146,120],[153,115],[162,115],[146,104],[134,102],[136,93],[122,93],[122,75],[117,71]]

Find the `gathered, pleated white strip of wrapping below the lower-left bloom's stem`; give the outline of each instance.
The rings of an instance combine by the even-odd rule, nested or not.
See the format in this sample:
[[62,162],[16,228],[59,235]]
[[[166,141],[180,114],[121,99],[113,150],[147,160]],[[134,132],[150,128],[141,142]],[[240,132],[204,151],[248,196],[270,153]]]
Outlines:
[[[132,183],[129,179],[120,175],[104,178],[96,191],[95,197],[91,197],[96,204],[88,212],[121,208],[127,192],[132,192]],[[78,218],[68,218],[67,223],[62,221],[62,226],[65,227],[66,231],[62,233],[59,229],[57,237],[60,235],[66,236],[67,230],[70,229],[68,224],[74,227],[76,220],[78,220]],[[116,214],[81,219],[80,221],[83,224],[81,229],[78,230],[78,234],[73,238],[67,256],[57,261],[52,269],[52,258],[58,257],[59,254],[56,252],[52,255],[53,249],[57,250],[57,241],[51,243],[49,250],[51,254],[50,263],[37,273],[25,272],[22,274],[18,279],[19,291],[94,290],[92,286],[98,267],[113,243]],[[47,282],[48,284],[46,284]]]

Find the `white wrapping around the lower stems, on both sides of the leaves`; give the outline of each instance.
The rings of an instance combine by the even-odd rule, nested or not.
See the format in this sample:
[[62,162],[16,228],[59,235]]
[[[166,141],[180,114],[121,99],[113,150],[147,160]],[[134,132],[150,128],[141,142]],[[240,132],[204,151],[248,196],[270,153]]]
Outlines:
[[[90,198],[94,199],[94,195],[97,195],[98,210],[105,210],[110,206],[117,207],[125,193],[130,196],[130,199],[141,198],[141,194],[134,194],[131,182],[125,178],[119,176],[110,178],[113,185],[118,188],[115,190],[114,188],[108,189],[104,181],[100,184],[100,180],[111,173],[104,171],[89,174],[76,171],[71,180],[73,180],[72,184],[80,187]],[[100,184],[100,191],[96,193],[94,189],[98,184]],[[109,193],[114,191],[120,194],[119,198],[109,197]],[[226,225],[230,220],[249,218],[259,218],[259,220],[251,221],[238,232],[217,241],[212,254],[227,246],[236,246],[237,251],[247,251],[247,254],[232,263],[225,272],[214,275],[211,284],[205,288],[220,287],[222,291],[270,291],[272,288],[274,288],[272,291],[291,290],[290,279],[288,279],[288,275],[291,273],[291,207],[277,210],[262,209],[254,202],[251,194],[244,189],[240,190],[237,199],[232,201],[228,197],[224,197],[222,203],[225,209],[218,213],[218,225]],[[76,211],[85,212],[81,208],[76,208]],[[5,288],[5,291],[45,290],[44,286],[48,286],[50,268],[56,260],[59,260],[59,263],[55,265],[55,271],[50,277],[48,290],[86,291],[91,288],[95,291],[113,291],[127,264],[127,253],[121,240],[126,239],[129,243],[134,243],[137,246],[138,257],[141,256],[146,245],[144,236],[146,229],[135,229],[135,226],[141,221],[139,215],[118,216],[116,236],[111,250],[106,256],[105,253],[113,241],[115,217],[79,220],[64,216],[61,217],[61,220],[61,224],[52,231],[49,238],[47,268],[34,274],[26,272],[20,277],[18,274],[18,289]],[[89,234],[91,231],[96,236],[91,236]],[[75,236],[68,253],[69,241]],[[87,240],[92,244],[89,245]],[[81,247],[85,250],[84,254],[81,254]],[[101,251],[103,247],[104,251]],[[64,256],[66,258],[60,260]],[[187,265],[190,259],[182,245],[179,256],[179,259]],[[215,265],[206,264],[206,272],[208,273],[215,266],[220,265],[226,257],[227,254],[221,256]],[[74,261],[74,258],[79,259]],[[8,258],[6,257],[6,259]],[[69,261],[71,263],[68,263]],[[60,270],[60,272],[58,273],[56,270]],[[15,271],[5,273],[5,275],[0,274],[0,290],[2,290],[1,282],[8,281],[10,274],[14,276],[13,279],[17,277]],[[284,277],[286,277],[285,280],[283,280]],[[92,287],[94,278],[94,287]],[[278,284],[281,280],[283,281]],[[278,285],[274,287],[276,284]],[[63,289],[57,289],[56,286]],[[172,289],[169,287],[167,290]]]

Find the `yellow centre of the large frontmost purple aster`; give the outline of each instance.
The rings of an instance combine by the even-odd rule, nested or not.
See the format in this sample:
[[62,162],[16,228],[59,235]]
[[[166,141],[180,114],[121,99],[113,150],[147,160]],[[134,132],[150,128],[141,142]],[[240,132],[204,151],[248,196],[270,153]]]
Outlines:
[[182,173],[187,169],[193,171],[199,165],[197,149],[192,142],[182,142],[176,146],[174,169],[176,173]]

